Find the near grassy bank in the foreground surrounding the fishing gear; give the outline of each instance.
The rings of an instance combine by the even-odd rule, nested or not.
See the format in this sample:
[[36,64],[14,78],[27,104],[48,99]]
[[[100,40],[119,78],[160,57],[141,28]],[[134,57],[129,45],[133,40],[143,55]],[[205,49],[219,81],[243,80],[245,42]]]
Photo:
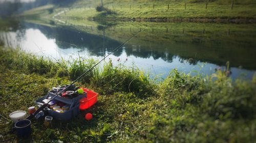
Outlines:
[[[0,48],[1,115],[34,105],[51,87],[67,84],[95,61],[52,62],[20,50]],[[215,78],[215,80],[211,80]],[[209,77],[176,70],[161,82],[135,68],[105,63],[77,85],[100,94],[89,111],[66,124],[47,129],[32,124],[30,138],[9,133],[12,126],[1,118],[4,142],[253,142],[255,140],[256,81],[232,82],[225,72]],[[13,102],[15,101],[15,102]]]

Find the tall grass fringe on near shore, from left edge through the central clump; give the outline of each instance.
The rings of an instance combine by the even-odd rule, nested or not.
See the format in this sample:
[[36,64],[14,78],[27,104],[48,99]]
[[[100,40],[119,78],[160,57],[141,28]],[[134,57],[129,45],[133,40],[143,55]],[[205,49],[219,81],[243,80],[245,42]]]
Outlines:
[[[1,64],[13,70],[23,73],[37,73],[47,77],[69,77],[77,79],[84,72],[92,68],[97,61],[92,58],[63,59],[52,61],[44,56],[36,56],[26,53],[19,48],[0,48]],[[100,93],[111,94],[114,91],[134,92],[140,95],[148,95],[154,92],[154,81],[148,74],[138,68],[127,68],[123,65],[114,67],[112,61],[104,63],[102,68],[96,66],[80,80],[83,84],[90,84],[99,88]]]

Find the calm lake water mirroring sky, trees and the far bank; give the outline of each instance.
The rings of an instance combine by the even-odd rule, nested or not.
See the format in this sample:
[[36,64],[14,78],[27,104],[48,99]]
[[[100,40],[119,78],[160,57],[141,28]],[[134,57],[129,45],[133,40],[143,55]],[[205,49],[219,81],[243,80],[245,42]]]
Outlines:
[[224,69],[227,61],[233,79],[251,79],[256,70],[253,24],[121,22],[92,26],[81,20],[76,25],[69,23],[17,22],[1,30],[0,39],[5,46],[21,47],[53,60],[78,56],[100,60],[141,31],[109,56],[115,65],[134,64],[163,78],[174,68],[193,75],[210,75],[215,69]]

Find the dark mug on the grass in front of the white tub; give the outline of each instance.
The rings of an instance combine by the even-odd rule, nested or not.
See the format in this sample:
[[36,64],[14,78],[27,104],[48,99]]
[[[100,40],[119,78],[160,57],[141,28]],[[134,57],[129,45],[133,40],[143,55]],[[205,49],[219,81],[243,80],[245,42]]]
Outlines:
[[31,134],[31,121],[24,119],[15,123],[12,128],[19,137],[26,137]]

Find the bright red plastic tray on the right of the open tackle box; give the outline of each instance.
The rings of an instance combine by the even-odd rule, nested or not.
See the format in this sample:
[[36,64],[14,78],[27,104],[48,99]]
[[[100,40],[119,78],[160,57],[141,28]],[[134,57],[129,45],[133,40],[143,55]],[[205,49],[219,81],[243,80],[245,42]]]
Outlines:
[[80,110],[85,110],[88,109],[89,107],[91,107],[92,105],[94,105],[97,102],[97,98],[98,98],[98,93],[86,89],[86,88],[80,88],[82,89],[84,92],[87,93],[87,98],[82,98],[79,102],[80,102],[80,106],[79,109]]

